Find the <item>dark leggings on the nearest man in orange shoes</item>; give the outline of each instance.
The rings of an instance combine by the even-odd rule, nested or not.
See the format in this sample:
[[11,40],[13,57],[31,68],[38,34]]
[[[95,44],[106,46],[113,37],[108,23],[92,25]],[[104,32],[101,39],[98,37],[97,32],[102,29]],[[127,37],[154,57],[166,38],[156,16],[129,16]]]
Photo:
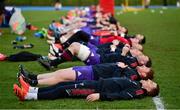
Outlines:
[[[38,100],[44,99],[58,99],[70,97],[71,94],[67,90],[71,89],[92,89],[97,91],[97,81],[75,81],[75,82],[64,82],[54,86],[42,87],[38,89]],[[81,94],[78,94],[81,95]]]

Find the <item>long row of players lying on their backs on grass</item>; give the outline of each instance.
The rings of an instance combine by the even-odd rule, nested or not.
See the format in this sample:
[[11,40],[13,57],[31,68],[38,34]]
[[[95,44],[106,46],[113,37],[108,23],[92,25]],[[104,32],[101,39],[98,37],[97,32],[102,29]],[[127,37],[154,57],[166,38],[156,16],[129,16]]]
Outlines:
[[[87,101],[121,100],[142,98],[146,95],[155,96],[159,93],[159,86],[150,80],[153,78],[153,71],[150,68],[151,60],[140,51],[142,48],[137,48],[141,46],[139,43],[142,39],[126,38],[127,29],[125,29],[126,33],[122,33],[124,28],[114,18],[113,22],[110,22],[110,17],[113,16],[102,14],[98,7],[89,9],[83,16],[88,17],[86,26],[96,31],[106,29],[111,32],[113,30],[114,35],[108,35],[106,38],[93,37],[93,34],[87,31],[87,27],[83,30],[84,18],[83,23],[82,19],[72,21],[73,25],[70,23],[61,28],[50,25],[52,32],[51,36],[48,36],[48,42],[61,43],[61,48],[57,49],[55,44],[51,44],[51,60],[45,61],[41,58],[39,62],[50,69],[76,56],[87,66],[74,66],[38,75],[29,73],[20,66],[18,78],[21,87],[14,84],[14,92],[20,100],[67,97],[86,97]],[[89,20],[90,17],[93,20]],[[76,25],[79,23],[82,24]],[[77,27],[81,30],[77,30]],[[121,37],[122,34],[126,34],[126,37]],[[111,37],[113,40],[109,40]],[[108,40],[104,40],[107,42],[101,44],[100,39]],[[110,42],[111,40],[113,42]],[[97,41],[99,44],[96,42],[93,45],[92,41]],[[48,85],[48,87],[34,87],[39,85]]]

